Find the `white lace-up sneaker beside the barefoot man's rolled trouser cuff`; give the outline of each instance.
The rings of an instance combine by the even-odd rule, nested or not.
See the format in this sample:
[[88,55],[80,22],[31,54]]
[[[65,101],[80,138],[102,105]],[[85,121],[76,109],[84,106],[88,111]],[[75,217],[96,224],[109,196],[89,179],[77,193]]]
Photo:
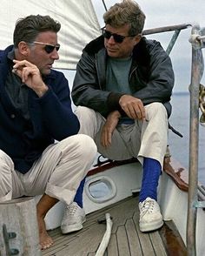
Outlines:
[[85,220],[84,210],[76,202],[73,202],[65,208],[61,230],[63,233],[81,230]]

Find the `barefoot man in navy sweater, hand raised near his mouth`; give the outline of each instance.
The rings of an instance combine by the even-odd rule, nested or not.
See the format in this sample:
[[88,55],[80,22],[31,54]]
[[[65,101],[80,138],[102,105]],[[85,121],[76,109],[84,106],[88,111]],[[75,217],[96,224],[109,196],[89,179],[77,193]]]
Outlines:
[[96,156],[92,138],[77,134],[68,81],[51,70],[60,28],[49,16],[19,19],[14,45],[0,51],[0,202],[43,194],[36,205],[42,249],[53,243],[46,213],[63,201],[66,228],[69,205]]

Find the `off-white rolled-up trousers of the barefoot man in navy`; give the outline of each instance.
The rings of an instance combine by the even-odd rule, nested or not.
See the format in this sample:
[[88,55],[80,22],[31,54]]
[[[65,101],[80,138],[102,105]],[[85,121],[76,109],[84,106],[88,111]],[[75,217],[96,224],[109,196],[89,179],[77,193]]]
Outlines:
[[22,174],[0,150],[0,202],[46,193],[69,205],[95,157],[93,139],[77,134],[48,146],[30,171]]

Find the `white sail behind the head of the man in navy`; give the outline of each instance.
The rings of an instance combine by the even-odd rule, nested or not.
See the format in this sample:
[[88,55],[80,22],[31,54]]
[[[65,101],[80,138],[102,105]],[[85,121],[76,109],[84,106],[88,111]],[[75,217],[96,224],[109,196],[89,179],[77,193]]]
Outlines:
[[62,24],[58,33],[60,59],[55,62],[55,68],[74,70],[85,44],[100,35],[100,25],[90,0],[1,0],[1,50],[13,44],[17,19],[31,14],[50,15]]

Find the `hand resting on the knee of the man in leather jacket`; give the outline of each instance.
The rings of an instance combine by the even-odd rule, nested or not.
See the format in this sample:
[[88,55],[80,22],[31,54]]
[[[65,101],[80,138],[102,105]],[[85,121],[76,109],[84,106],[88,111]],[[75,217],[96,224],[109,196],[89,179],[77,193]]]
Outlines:
[[145,109],[142,100],[131,95],[122,95],[119,100],[122,110],[132,119],[145,119]]

